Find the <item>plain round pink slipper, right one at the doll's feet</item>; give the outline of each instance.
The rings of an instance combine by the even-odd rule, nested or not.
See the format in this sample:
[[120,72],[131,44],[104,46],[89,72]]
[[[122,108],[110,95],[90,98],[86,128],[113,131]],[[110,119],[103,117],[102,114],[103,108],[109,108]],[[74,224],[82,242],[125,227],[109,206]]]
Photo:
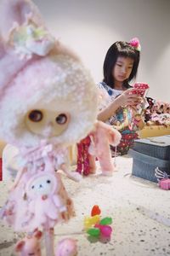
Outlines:
[[76,256],[77,241],[71,238],[65,238],[59,241],[55,256]]

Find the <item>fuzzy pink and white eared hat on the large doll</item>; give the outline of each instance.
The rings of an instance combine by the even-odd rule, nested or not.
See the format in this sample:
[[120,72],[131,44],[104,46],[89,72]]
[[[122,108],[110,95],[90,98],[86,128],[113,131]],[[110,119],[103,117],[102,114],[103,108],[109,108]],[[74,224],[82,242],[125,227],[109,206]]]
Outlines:
[[92,129],[96,86],[77,56],[55,40],[30,0],[3,0],[0,6],[0,138],[36,146],[25,116],[38,102],[71,113],[68,131],[56,143],[76,143]]

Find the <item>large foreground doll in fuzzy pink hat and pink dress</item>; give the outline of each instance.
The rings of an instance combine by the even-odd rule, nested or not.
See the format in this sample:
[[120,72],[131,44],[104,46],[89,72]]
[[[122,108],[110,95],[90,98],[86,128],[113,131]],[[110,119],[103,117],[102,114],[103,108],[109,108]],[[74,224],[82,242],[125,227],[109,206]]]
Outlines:
[[[33,241],[42,230],[53,256],[54,225],[74,216],[59,170],[78,179],[69,170],[67,148],[94,127],[95,84],[30,0],[4,0],[0,10],[0,137],[19,148],[20,159],[1,217]],[[17,248],[20,255],[41,255]]]

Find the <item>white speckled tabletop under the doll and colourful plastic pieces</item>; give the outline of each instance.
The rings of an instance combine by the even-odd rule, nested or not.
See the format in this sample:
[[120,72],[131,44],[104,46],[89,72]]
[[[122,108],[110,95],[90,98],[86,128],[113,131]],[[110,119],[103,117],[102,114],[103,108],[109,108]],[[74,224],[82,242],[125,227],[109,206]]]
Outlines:
[[[55,226],[55,244],[65,237],[76,238],[80,256],[170,254],[170,191],[133,177],[132,165],[132,158],[119,156],[112,177],[101,176],[99,166],[96,174],[83,177],[80,183],[63,177],[77,216]],[[9,181],[0,183],[0,207],[7,199],[8,185]],[[113,219],[110,241],[92,241],[83,230],[83,219],[94,205],[99,205],[102,218]],[[12,256],[20,234],[2,221],[0,227],[0,255]]]

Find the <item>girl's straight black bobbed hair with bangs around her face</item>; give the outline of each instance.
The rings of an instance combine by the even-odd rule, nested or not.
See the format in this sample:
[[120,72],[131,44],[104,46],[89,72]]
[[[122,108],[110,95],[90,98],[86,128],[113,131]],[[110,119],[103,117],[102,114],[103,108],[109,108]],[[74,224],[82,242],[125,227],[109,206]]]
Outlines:
[[129,43],[124,41],[117,41],[112,44],[105,55],[105,61],[103,66],[105,84],[108,84],[111,88],[114,88],[114,78],[112,75],[113,67],[115,67],[118,57],[125,57],[133,59],[133,70],[129,78],[123,82],[123,86],[129,88],[129,82],[135,79],[139,67],[140,53],[137,49],[134,49]]

